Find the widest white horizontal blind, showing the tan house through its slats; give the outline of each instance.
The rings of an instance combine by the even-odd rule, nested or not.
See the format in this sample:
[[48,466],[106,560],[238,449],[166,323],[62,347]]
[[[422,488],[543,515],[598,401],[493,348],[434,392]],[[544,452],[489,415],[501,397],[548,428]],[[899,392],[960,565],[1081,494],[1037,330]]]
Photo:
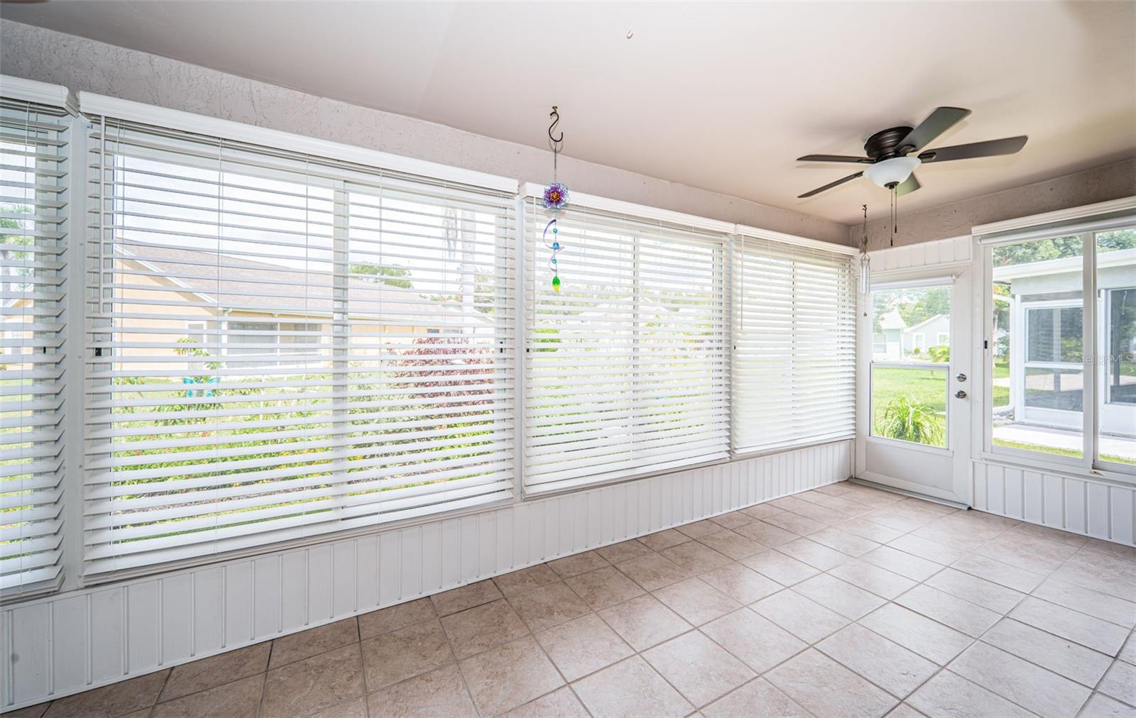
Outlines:
[[90,136],[86,574],[512,495],[515,203]]

